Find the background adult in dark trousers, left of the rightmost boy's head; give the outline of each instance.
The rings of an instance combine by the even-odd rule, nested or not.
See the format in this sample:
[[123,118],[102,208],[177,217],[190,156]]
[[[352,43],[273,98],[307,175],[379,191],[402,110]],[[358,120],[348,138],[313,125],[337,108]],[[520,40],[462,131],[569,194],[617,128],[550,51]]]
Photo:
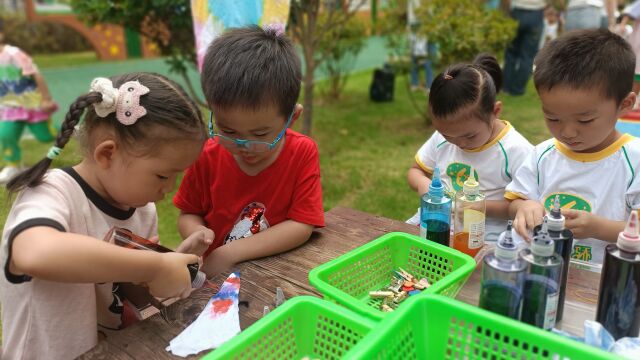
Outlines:
[[545,0],[511,0],[511,17],[518,21],[518,31],[504,56],[504,91],[522,95],[533,70],[533,58],[544,25]]

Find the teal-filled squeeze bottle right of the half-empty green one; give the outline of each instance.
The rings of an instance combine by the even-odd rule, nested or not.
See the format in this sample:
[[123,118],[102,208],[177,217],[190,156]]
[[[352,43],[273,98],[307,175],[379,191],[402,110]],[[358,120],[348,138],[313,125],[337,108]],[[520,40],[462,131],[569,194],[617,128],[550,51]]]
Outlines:
[[547,231],[547,220],[533,237],[531,248],[522,250],[528,263],[524,282],[521,320],[550,330],[556,324],[562,258],[555,253],[553,240]]

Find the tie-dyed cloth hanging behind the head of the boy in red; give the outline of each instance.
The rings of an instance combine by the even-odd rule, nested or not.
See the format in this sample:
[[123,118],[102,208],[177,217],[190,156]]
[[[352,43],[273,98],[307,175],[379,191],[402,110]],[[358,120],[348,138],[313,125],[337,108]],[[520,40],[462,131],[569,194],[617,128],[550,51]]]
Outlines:
[[207,47],[226,29],[249,25],[281,25],[289,18],[290,0],[191,0],[198,69]]

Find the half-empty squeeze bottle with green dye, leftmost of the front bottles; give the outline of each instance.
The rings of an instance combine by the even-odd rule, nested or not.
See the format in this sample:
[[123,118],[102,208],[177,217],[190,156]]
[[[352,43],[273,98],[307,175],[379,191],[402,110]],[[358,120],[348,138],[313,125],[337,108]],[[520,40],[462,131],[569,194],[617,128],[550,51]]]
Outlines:
[[520,320],[527,264],[518,257],[511,238],[512,222],[500,235],[494,252],[482,260],[480,304],[483,309]]

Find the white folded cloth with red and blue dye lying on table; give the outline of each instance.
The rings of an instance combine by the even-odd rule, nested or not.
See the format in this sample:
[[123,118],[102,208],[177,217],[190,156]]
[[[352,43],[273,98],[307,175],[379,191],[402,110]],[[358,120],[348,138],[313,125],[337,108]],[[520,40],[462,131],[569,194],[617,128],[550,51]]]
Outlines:
[[240,332],[239,293],[240,274],[234,272],[211,297],[196,321],[171,340],[166,350],[186,357],[215,349],[236,336]]

